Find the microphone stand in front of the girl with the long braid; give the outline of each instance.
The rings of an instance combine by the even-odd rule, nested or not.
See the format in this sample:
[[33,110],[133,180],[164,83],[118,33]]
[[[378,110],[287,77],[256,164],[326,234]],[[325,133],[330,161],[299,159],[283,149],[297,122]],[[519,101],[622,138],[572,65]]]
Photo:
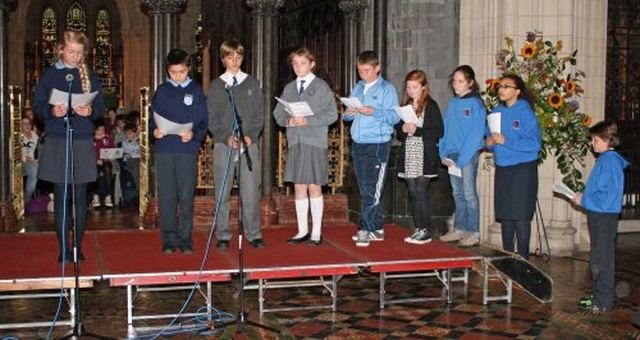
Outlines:
[[[73,108],[71,107],[71,87],[73,85],[73,75],[67,75],[67,82],[69,82],[69,100],[67,102],[67,114],[64,117],[65,124],[67,127],[67,141],[68,141],[68,165],[69,165],[69,181],[65,183],[65,185],[71,187],[71,217],[73,219],[73,275],[75,278],[74,286],[73,286],[73,298],[71,299],[71,303],[73,306],[72,310],[75,311],[73,314],[73,331],[63,336],[62,339],[79,339],[80,337],[92,337],[96,339],[105,339],[111,340],[115,338],[106,337],[98,334],[94,334],[91,332],[84,332],[84,327],[82,326],[82,317],[80,313],[80,267],[79,267],[79,248],[78,248],[78,223],[77,223],[77,215],[76,215],[76,182],[75,182],[75,156],[73,154],[73,119],[75,118],[75,114],[73,114]],[[64,204],[67,204],[67,197],[63,198]],[[66,209],[64,210],[66,212]],[[67,221],[66,218],[62,219],[63,221]],[[62,226],[62,242],[63,244],[67,244],[67,237],[69,233],[67,232],[67,223]],[[66,256],[66,252],[63,252],[63,257]],[[64,266],[64,262],[66,259],[63,258],[62,265]]]

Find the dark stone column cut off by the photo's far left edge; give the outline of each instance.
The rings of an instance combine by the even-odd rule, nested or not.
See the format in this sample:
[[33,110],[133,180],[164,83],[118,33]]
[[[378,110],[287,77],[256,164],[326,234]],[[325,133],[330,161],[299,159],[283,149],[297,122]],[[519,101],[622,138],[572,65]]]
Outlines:
[[11,204],[11,160],[9,140],[11,126],[9,126],[9,108],[7,105],[7,12],[13,0],[0,0],[0,231],[5,230],[5,220],[15,220],[15,212]]

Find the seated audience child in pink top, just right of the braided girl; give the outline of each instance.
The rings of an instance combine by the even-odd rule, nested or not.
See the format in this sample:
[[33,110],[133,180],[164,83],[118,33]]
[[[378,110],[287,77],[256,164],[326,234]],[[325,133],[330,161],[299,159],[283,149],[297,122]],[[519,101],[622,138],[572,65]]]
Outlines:
[[103,159],[100,151],[107,148],[115,148],[115,144],[105,131],[103,122],[96,122],[93,133],[93,145],[96,149],[96,164],[98,166],[98,180],[96,181],[91,207],[104,206],[113,207],[111,194],[113,193],[113,163],[115,159]]

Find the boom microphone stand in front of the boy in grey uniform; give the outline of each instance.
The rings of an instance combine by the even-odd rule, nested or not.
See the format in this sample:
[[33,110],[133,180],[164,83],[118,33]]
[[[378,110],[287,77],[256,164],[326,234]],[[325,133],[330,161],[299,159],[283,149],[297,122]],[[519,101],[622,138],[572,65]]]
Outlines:
[[[233,112],[233,138],[238,138],[238,317],[236,321],[225,322],[220,326],[225,327],[231,323],[236,323],[236,334],[241,332],[241,325],[248,324],[251,326],[259,327],[270,332],[278,333],[278,330],[255,321],[247,319],[244,310],[244,225],[242,223],[242,181],[240,180],[242,171],[242,153],[247,157],[247,168],[249,171],[253,171],[253,164],[251,162],[251,156],[249,155],[249,147],[246,146],[244,141],[244,133],[242,133],[242,120],[238,114],[238,107],[236,105],[235,97],[233,96],[233,87],[225,86],[227,93],[229,94],[229,102],[231,103],[231,111]],[[233,143],[232,143],[233,145]],[[244,150],[244,152],[242,152]]]

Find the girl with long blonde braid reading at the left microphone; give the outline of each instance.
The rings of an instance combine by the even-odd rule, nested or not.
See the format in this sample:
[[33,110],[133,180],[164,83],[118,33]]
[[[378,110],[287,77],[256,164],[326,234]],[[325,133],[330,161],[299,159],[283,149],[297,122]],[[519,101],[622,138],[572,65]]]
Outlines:
[[[102,85],[96,74],[87,64],[86,53],[90,51],[89,39],[82,33],[67,31],[59,40],[55,53],[56,63],[45,70],[36,86],[33,100],[33,112],[44,122],[46,143],[42,144],[39,153],[38,179],[53,183],[54,219],[56,236],[60,243],[58,262],[71,260],[69,247],[68,226],[71,209],[65,209],[67,200],[72,192],[69,185],[74,185],[75,230],[73,240],[77,240],[77,259],[84,260],[82,240],[87,214],[87,184],[96,180],[96,155],[93,148],[94,122],[102,119],[104,113],[104,99]],[[58,91],[74,94],[97,95],[90,105],[67,107],[67,102],[50,103],[51,93]],[[69,116],[69,117],[68,117]],[[71,123],[72,125],[69,125]],[[69,127],[73,126],[73,148],[69,148]],[[67,151],[73,151],[72,156],[65,157]],[[73,177],[69,176],[73,160]],[[72,181],[73,180],[73,181]],[[66,222],[66,223],[65,223]]]

